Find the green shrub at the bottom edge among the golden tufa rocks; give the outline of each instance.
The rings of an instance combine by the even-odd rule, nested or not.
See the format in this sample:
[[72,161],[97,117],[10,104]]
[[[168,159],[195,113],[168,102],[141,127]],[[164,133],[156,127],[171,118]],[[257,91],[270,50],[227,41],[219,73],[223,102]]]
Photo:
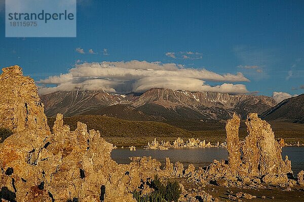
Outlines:
[[133,192],[133,197],[137,202],[177,202],[181,194],[181,189],[177,181],[166,181],[162,183],[158,176],[155,176],[154,180],[151,181],[150,187],[154,188],[155,191],[149,194],[141,195],[140,192]]

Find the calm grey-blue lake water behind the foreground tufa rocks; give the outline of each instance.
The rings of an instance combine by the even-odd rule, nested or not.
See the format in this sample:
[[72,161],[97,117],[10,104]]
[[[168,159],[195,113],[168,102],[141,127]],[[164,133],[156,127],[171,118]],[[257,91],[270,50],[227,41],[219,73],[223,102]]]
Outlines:
[[[300,170],[304,170],[304,146],[288,146],[282,148],[282,156],[291,160],[292,171],[296,175]],[[113,149],[111,157],[119,164],[129,164],[129,157],[151,156],[165,165],[165,158],[169,157],[171,162],[181,162],[184,167],[194,164],[196,168],[205,167],[212,163],[214,159],[227,159],[226,148],[170,148],[169,150],[145,150],[137,148],[136,151],[130,149]]]

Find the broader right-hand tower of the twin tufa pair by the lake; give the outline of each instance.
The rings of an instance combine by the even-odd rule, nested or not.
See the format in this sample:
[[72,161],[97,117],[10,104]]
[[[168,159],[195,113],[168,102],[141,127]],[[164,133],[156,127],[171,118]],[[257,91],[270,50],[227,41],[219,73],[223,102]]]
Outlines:
[[245,123],[248,136],[242,145],[242,161],[247,173],[262,177],[266,183],[287,183],[287,173],[292,173],[291,163],[288,157],[282,160],[282,150],[270,124],[257,114],[249,114]]

